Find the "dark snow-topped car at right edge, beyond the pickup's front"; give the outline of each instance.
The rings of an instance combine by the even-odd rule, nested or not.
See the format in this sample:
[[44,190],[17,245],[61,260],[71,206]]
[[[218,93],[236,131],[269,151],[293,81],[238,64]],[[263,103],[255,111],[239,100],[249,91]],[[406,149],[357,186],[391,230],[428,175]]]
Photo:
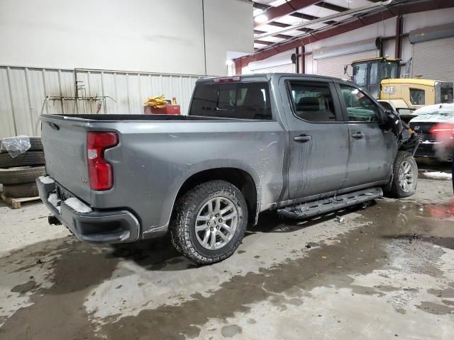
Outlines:
[[[436,139],[432,129],[440,123],[454,126],[454,103],[424,106],[414,111],[413,115],[416,117],[410,120],[409,125],[420,141],[415,157],[452,159],[454,150],[443,147],[443,142]],[[454,128],[452,135],[451,139],[454,141]]]

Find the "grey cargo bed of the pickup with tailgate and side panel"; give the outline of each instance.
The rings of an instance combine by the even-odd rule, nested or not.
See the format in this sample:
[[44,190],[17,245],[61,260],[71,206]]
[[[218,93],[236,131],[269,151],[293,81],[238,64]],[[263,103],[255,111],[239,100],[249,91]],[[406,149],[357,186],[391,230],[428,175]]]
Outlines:
[[[255,183],[264,183],[257,195],[265,209],[282,189],[284,130],[277,122],[177,115],[43,115],[41,120],[47,173],[64,197],[79,198],[92,208],[92,215],[102,212],[101,220],[106,214],[128,211],[139,221],[140,232],[130,230],[125,237],[124,230],[116,230],[104,234],[106,242],[165,234],[179,189],[200,171],[219,167],[247,171]],[[116,147],[105,151],[115,185],[93,191],[87,132],[106,130],[121,136]],[[137,229],[131,225],[123,227]],[[101,239],[101,230],[89,229],[93,230],[86,234],[73,231],[85,241]],[[99,222],[99,229],[106,229],[105,224]]]

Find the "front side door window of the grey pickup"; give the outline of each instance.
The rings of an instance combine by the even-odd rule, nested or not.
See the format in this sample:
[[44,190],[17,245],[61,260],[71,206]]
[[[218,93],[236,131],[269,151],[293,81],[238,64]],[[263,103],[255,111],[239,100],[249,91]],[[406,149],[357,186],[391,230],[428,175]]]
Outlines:
[[341,100],[345,103],[350,122],[380,122],[380,108],[356,87],[340,84]]

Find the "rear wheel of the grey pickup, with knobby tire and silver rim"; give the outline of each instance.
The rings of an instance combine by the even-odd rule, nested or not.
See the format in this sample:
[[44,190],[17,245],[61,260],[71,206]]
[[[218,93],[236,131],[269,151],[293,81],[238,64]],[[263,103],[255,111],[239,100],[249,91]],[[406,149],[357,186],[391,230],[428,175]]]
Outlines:
[[209,181],[185,193],[170,222],[175,248],[191,261],[210,264],[233,254],[248,225],[243,194],[226,181]]

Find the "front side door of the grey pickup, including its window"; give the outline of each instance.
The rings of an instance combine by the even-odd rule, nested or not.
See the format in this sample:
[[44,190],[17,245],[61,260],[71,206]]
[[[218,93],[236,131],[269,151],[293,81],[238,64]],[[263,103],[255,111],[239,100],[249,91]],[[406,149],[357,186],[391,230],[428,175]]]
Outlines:
[[397,142],[392,131],[383,128],[382,109],[359,88],[347,84],[337,86],[350,138],[343,188],[389,180]]

